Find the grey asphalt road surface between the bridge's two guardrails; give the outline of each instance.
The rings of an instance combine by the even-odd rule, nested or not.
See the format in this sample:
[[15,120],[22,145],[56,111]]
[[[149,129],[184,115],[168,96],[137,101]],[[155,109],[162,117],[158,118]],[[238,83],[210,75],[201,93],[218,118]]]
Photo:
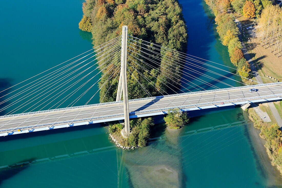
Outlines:
[[[282,83],[277,85],[258,86],[257,92],[250,93],[248,88],[228,89],[221,91],[206,91],[204,93],[192,93],[180,96],[170,96],[156,98],[154,100],[137,100],[129,101],[129,112],[142,112],[144,110],[162,109],[166,107],[191,105],[187,108],[201,107],[211,105],[211,102],[219,102],[222,100],[241,99],[275,95],[282,93]],[[280,95],[281,96],[281,95]],[[275,96],[274,96],[275,97]],[[273,98],[270,97],[270,98]],[[246,101],[246,100],[245,100]],[[231,101],[232,102],[232,101]],[[206,103],[206,104],[201,104]],[[225,101],[225,103],[228,103]],[[18,115],[14,117],[1,117],[0,130],[7,128],[17,128],[23,126],[36,126],[46,123],[78,120],[85,118],[93,118],[107,115],[115,115],[123,113],[123,103],[101,104],[98,106],[83,107],[69,110],[59,110],[53,112],[43,112],[28,115]]]

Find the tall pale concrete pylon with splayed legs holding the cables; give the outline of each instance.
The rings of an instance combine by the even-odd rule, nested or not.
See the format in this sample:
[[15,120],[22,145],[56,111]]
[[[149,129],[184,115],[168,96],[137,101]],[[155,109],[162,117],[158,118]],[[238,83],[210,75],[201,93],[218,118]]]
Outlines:
[[120,101],[123,94],[124,101],[124,133],[130,133],[129,126],[129,107],[128,107],[128,92],[127,92],[127,26],[122,26],[122,51],[120,63],[120,79],[118,82],[118,92],[116,101]]

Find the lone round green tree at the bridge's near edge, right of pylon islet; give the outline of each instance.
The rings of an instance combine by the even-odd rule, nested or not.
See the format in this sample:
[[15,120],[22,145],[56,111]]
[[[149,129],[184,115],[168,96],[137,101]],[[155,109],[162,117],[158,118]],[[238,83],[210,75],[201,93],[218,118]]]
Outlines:
[[175,108],[168,112],[166,117],[164,117],[164,121],[169,128],[179,129],[188,123],[189,118],[187,117],[186,112],[182,112],[179,108]]

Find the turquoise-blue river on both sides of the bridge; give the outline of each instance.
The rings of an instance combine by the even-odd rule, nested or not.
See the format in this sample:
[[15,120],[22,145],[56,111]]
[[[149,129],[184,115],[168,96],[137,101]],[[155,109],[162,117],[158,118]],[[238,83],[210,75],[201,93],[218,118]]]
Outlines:
[[[0,12],[2,88],[91,49],[91,34],[78,29],[82,2],[0,2],[5,7]],[[180,0],[180,4],[189,29],[188,53],[232,66],[205,3]],[[98,97],[92,102],[97,103]],[[0,187],[281,186],[270,162],[261,162],[264,150],[259,150],[261,143],[254,139],[257,132],[250,131],[252,122],[241,108],[190,116],[189,125],[180,131],[168,132],[164,124],[155,125],[155,139],[148,147],[131,151],[117,149],[101,125],[1,137],[0,167],[33,162],[2,169]],[[272,172],[276,175],[271,176]]]

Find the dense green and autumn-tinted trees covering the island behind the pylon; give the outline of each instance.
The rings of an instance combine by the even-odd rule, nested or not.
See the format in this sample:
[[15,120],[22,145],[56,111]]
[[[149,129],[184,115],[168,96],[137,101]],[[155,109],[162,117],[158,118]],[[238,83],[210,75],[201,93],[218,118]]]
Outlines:
[[[162,47],[181,52],[186,51],[187,28],[182,16],[182,9],[175,0],[86,0],[83,3],[83,14],[80,28],[87,28],[89,31],[88,27],[81,25],[83,23],[88,24],[88,20],[90,21],[94,47],[120,36],[122,26],[127,25],[128,34],[131,36]],[[150,91],[152,96],[173,93],[173,90],[170,88],[172,88],[171,86],[175,88],[178,85],[175,82],[180,82],[182,73],[179,70],[182,69],[180,62],[178,65],[175,65],[178,62],[166,61],[164,64],[164,61],[162,61],[171,52],[162,53],[162,57],[155,60],[155,64],[144,58],[142,52],[138,51],[138,49],[128,47],[127,52],[132,54],[131,60],[127,59],[127,63],[130,64],[127,65],[129,99],[149,97],[142,86],[147,91]],[[132,60],[137,53],[140,54],[138,56],[140,61]],[[101,61],[99,64],[101,65],[104,62]],[[101,69],[108,65],[106,63]],[[142,69],[140,65],[146,70]],[[109,102],[116,98],[119,77],[114,73],[115,70],[109,71],[108,68],[103,70],[103,73],[109,71],[108,74],[111,75],[113,73],[113,76],[111,78],[104,76],[99,82],[101,87],[109,79],[100,90],[100,102]],[[142,75],[145,75],[146,78]],[[166,86],[162,85],[163,83],[166,83]]]

